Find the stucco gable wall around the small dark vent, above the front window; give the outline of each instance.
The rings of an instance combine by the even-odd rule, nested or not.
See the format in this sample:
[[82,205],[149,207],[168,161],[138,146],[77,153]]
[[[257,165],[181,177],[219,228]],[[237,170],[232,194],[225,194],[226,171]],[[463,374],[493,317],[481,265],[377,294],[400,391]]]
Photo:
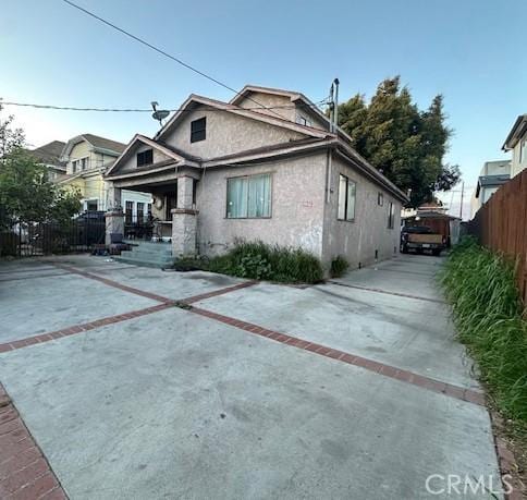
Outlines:
[[[203,117],[207,117],[207,138],[191,143],[191,122]],[[189,155],[209,159],[303,137],[305,135],[257,120],[207,111],[201,106],[187,113],[164,141]]]

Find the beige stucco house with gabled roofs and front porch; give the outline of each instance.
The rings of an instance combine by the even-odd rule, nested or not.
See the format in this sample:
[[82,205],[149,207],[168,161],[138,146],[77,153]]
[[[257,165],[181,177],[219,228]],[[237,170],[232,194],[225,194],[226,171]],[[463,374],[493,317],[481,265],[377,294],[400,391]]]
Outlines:
[[107,241],[123,191],[151,193],[172,255],[218,255],[237,239],[302,247],[326,266],[399,252],[407,200],[350,137],[296,92],[244,87],[230,102],[191,95],[154,138],[135,135],[107,171]]

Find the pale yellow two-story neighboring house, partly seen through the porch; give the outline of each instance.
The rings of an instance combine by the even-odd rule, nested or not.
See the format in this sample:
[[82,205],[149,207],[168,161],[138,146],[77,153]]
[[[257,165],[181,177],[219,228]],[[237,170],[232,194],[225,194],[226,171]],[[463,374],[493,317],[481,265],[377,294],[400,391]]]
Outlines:
[[[81,192],[83,210],[108,208],[108,184],[102,175],[123,153],[125,144],[94,134],[82,134],[63,146],[61,161],[65,175],[59,180],[63,186]],[[151,196],[147,193],[123,193],[123,209],[130,219],[146,218],[151,209]]]

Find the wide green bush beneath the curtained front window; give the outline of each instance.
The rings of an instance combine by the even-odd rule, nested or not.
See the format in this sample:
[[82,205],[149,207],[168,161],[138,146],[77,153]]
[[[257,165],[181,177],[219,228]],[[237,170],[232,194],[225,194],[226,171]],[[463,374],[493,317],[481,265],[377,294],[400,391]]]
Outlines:
[[228,254],[210,259],[213,272],[287,283],[317,283],[323,279],[320,260],[299,248],[238,242]]

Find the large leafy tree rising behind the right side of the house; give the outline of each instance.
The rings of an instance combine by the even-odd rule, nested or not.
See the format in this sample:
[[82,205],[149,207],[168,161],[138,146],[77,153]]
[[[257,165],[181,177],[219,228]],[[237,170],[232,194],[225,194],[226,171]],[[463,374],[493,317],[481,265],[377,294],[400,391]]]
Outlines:
[[400,190],[409,193],[408,207],[433,199],[459,179],[457,166],[443,163],[452,131],[445,125],[443,98],[420,111],[399,76],[378,86],[367,103],[363,95],[339,106],[339,125],[353,146]]

